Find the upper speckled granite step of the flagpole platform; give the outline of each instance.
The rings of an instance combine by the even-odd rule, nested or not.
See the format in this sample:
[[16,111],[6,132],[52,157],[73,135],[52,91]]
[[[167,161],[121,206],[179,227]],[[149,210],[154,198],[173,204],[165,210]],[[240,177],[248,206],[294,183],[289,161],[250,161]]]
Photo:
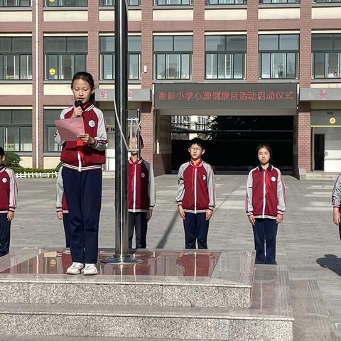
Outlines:
[[[167,254],[167,251],[163,253]],[[101,264],[99,276],[23,274],[26,269],[45,269],[49,264],[54,264],[55,269],[61,258],[57,254],[56,251],[45,251],[23,264],[12,266],[9,273],[0,274],[0,303],[217,308],[249,308],[251,305],[254,251],[222,251],[211,276],[119,275],[119,266],[108,268]],[[200,252],[197,254],[199,268],[203,262]],[[70,258],[70,254],[66,256]],[[39,263],[37,259],[40,259]],[[211,260],[214,259],[208,261]],[[168,266],[172,261],[178,266],[176,257],[169,259]],[[16,274],[17,269],[20,274]],[[133,273],[134,269],[131,269],[129,274]]]

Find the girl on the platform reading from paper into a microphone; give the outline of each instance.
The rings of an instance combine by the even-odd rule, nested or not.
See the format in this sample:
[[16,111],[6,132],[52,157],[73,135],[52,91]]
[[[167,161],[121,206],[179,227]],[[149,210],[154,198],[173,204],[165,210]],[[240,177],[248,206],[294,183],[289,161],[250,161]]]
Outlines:
[[[70,251],[72,264],[67,274],[97,274],[98,227],[102,201],[102,164],[105,163],[107,129],[101,110],[94,107],[94,80],[87,72],[73,76],[71,89],[75,104],[64,109],[60,119],[79,117],[84,121],[85,134],[78,141],[55,139],[63,146],[64,192],[69,209]],[[78,107],[76,104],[82,101]],[[84,268],[84,269],[83,269]]]

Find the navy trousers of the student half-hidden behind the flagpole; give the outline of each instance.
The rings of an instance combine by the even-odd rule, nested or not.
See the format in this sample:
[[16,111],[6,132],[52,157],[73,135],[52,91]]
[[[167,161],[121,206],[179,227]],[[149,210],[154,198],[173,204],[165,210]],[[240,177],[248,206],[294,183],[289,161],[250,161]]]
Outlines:
[[133,246],[133,236],[135,231],[136,249],[146,249],[147,246],[147,213],[129,212],[129,249]]

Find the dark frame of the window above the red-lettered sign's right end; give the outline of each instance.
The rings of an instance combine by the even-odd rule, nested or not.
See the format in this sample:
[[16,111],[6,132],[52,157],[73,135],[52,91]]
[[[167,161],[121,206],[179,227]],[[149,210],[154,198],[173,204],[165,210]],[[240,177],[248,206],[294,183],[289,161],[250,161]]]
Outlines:
[[[293,50],[293,49],[283,49],[281,50],[280,48],[280,44],[281,44],[281,40],[280,40],[280,37],[281,36],[288,36],[288,35],[296,35],[298,36],[298,49],[297,50]],[[267,36],[265,34],[261,35],[259,34],[259,38],[260,36]],[[260,39],[258,38],[258,53],[259,53],[259,80],[298,80],[299,78],[299,56],[300,56],[300,34],[299,33],[289,33],[289,34],[271,34],[271,36],[277,36],[277,50],[261,50],[259,48],[259,43],[260,43]],[[276,53],[282,53],[282,54],[285,54],[286,55],[286,62],[288,60],[287,56],[288,56],[288,53],[295,53],[295,77],[292,78],[292,77],[271,77],[272,75],[272,55],[276,54]],[[270,77],[262,77],[263,75],[263,65],[262,65],[262,56],[263,54],[269,54],[270,55],[270,65],[269,65],[269,70],[270,70]],[[287,73],[287,64],[285,65],[285,69],[283,67],[283,74],[286,74]],[[285,72],[284,72],[285,70]]]

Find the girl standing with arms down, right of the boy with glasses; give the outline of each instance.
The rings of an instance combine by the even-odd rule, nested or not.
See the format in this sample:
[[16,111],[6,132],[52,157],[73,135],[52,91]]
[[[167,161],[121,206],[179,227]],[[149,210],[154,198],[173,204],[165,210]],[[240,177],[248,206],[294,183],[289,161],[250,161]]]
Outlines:
[[286,210],[286,190],[281,171],[271,165],[269,144],[257,147],[259,166],[247,178],[245,210],[254,230],[256,264],[276,264],[278,224]]

